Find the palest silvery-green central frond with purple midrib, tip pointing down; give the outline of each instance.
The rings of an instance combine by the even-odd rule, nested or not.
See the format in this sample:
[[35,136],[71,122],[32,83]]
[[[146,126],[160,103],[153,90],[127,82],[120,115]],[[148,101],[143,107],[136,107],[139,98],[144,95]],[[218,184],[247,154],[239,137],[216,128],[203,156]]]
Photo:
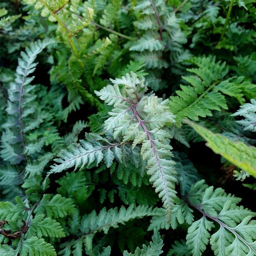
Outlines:
[[[114,105],[110,117],[105,121],[106,131],[114,132],[114,138],[123,136],[123,142],[133,141],[133,148],[142,144],[141,155],[147,160],[147,173],[151,176],[155,191],[162,198],[166,208],[167,221],[170,219],[173,199],[175,197],[174,162],[169,146],[170,135],[162,128],[174,122],[174,116],[166,114],[166,102],[154,94],[144,96],[144,79],[136,74],[127,74],[121,79],[112,80],[112,85],[95,92],[109,105]],[[118,85],[123,88],[120,91]]]

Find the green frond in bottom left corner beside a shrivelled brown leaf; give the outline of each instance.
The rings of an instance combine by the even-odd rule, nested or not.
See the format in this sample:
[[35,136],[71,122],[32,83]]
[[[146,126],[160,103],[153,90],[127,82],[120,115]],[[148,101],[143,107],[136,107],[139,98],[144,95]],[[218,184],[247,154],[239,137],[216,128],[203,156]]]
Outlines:
[[[39,176],[38,176],[39,177]],[[35,177],[33,177],[35,179]],[[42,179],[33,180],[34,182],[41,183]],[[30,184],[30,186],[29,186]],[[40,191],[40,185],[35,185],[35,183],[25,182],[24,187],[30,187],[27,189],[26,193],[32,193],[35,200],[38,200],[31,208],[29,204],[25,206],[20,197],[16,197],[16,204],[11,202],[0,202],[0,219],[6,219],[6,222],[16,229],[15,222],[17,220],[26,219],[25,223],[27,230],[21,231],[22,233],[18,235],[18,241],[12,243],[13,249],[8,245],[1,245],[0,252],[1,255],[45,255],[45,256],[55,256],[57,255],[53,246],[47,243],[42,236],[49,237],[65,237],[65,233],[60,223],[55,219],[50,217],[64,217],[68,212],[74,211],[74,206],[72,205],[71,199],[65,199],[60,195],[55,195],[51,200],[50,195],[44,195],[40,200],[37,193]],[[32,185],[32,186],[31,186]],[[34,187],[33,187],[34,186]],[[33,198],[33,197],[32,197]],[[43,213],[50,217],[45,217]],[[33,216],[35,214],[35,216]],[[22,230],[22,229],[20,229]],[[11,230],[10,230],[11,231]],[[14,233],[15,234],[15,233]],[[19,238],[20,236],[20,238]],[[8,238],[6,238],[8,242]],[[15,238],[13,238],[15,239]],[[3,240],[1,240],[3,241]]]

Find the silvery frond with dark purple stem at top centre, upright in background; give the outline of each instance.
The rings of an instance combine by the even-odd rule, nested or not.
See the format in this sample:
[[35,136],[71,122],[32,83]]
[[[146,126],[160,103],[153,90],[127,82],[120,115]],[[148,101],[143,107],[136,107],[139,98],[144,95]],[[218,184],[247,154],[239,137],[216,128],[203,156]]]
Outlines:
[[[172,8],[165,1],[141,0],[133,7],[139,12],[139,20],[133,22],[138,28],[139,40],[129,47],[134,53],[133,57],[140,61],[144,60],[147,68],[169,67],[170,56],[172,59],[182,51],[182,44],[187,38],[180,29],[180,19],[176,18]],[[163,74],[163,72],[161,72]],[[149,83],[154,90],[161,89],[161,86]]]

